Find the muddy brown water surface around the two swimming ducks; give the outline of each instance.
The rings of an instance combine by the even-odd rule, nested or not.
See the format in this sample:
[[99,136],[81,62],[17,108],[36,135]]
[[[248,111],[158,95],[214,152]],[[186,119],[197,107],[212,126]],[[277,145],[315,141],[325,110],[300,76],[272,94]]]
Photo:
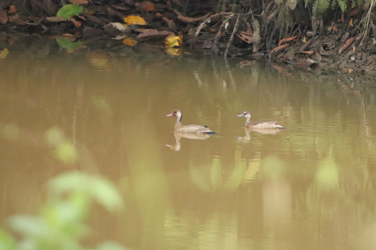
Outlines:
[[[0,225],[35,214],[47,180],[76,169],[112,180],[126,204],[92,212],[92,243],[375,249],[376,85],[287,71],[162,51],[10,51],[0,59]],[[174,134],[174,109],[217,134]],[[286,129],[246,130],[244,111]],[[79,162],[53,157],[51,127]]]

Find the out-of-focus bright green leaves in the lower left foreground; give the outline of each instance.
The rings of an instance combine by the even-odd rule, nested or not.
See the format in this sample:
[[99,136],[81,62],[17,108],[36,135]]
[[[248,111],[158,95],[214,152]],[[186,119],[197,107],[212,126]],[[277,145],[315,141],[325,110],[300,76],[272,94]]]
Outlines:
[[[8,130],[16,131],[8,128]],[[65,163],[77,159],[77,150],[58,128],[45,133],[45,141],[55,147],[55,156]],[[85,247],[82,240],[90,234],[86,225],[94,202],[110,212],[123,207],[123,199],[111,181],[100,175],[68,171],[47,183],[47,197],[39,213],[8,218],[17,238],[0,228],[0,249],[6,250],[121,250],[123,246],[106,241],[97,247]]]

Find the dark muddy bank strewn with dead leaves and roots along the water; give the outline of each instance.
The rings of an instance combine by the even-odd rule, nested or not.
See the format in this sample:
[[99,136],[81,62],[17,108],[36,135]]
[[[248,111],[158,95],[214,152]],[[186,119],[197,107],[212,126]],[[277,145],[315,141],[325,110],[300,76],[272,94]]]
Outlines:
[[[344,11],[332,4],[318,12],[316,1],[308,2],[3,0],[0,51],[11,51],[25,35],[46,34],[70,52],[148,44],[173,56],[189,48],[307,70],[375,73],[373,6]],[[75,4],[77,12],[62,11],[67,4]]]

